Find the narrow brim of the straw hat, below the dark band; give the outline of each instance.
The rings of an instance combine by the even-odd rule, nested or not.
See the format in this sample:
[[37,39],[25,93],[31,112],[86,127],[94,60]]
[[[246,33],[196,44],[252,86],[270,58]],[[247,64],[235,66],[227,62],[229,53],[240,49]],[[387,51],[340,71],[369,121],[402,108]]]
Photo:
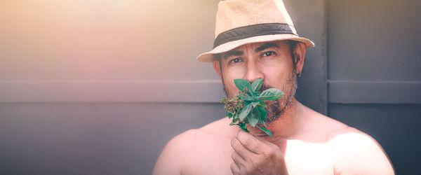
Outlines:
[[263,35],[263,36],[253,36],[250,38],[243,38],[240,40],[223,43],[221,45],[218,45],[216,48],[213,48],[213,50],[210,50],[209,52],[202,53],[196,59],[199,62],[212,62],[214,54],[227,52],[229,50],[238,48],[239,46],[247,44],[247,43],[258,43],[258,42],[278,41],[278,40],[300,41],[302,43],[305,43],[307,48],[314,47],[314,43],[307,38],[302,38],[300,36],[296,36],[293,34],[272,34],[272,35]]

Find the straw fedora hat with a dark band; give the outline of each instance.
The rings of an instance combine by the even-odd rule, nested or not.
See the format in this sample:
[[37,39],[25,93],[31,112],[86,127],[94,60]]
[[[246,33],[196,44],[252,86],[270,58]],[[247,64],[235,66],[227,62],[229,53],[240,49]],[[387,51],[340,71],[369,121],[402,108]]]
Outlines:
[[281,0],[226,0],[218,4],[213,50],[197,57],[212,62],[213,54],[227,52],[246,43],[294,40],[314,43],[298,36]]

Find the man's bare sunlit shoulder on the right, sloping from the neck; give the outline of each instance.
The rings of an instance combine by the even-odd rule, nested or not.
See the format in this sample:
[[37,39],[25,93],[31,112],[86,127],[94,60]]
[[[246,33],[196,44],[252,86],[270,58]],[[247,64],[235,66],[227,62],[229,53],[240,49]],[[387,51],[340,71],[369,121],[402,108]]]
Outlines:
[[323,143],[333,157],[335,174],[394,174],[382,146],[368,134],[305,107],[302,140]]

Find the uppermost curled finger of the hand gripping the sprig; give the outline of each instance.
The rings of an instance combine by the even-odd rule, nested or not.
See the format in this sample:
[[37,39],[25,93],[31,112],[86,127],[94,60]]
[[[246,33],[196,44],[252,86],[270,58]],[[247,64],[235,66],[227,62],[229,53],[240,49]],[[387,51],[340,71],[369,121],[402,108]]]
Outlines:
[[255,154],[260,154],[260,152],[265,148],[265,144],[262,141],[254,137],[252,134],[248,134],[242,130],[239,131],[236,138],[239,139],[246,149]]

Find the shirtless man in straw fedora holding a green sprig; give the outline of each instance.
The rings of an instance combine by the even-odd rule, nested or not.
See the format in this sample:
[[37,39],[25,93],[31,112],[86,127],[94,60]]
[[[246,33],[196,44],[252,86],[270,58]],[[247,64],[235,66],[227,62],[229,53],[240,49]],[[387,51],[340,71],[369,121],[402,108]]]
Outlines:
[[236,78],[263,78],[263,90],[286,94],[266,102],[265,123],[274,139],[222,118],[169,141],[154,174],[394,174],[373,138],[295,99],[312,46],[298,36],[282,1],[221,1],[214,48],[197,59],[213,62],[228,97],[239,93]]

